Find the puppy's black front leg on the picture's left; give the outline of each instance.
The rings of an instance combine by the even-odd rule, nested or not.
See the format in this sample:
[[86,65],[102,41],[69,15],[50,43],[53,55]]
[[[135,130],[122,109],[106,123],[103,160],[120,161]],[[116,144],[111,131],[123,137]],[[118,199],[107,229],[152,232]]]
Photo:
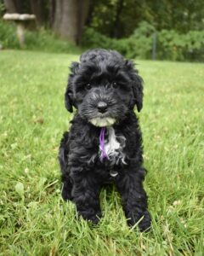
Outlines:
[[77,175],[72,175],[72,179],[74,185],[71,195],[76,203],[79,216],[97,224],[101,218],[97,179],[88,173],[77,173]]

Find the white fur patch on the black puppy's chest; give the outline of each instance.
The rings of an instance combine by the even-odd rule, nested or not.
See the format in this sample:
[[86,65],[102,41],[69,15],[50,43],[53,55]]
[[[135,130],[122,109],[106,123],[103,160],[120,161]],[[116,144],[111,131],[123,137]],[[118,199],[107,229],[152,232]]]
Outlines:
[[[108,141],[105,143],[105,152],[109,157],[112,165],[117,165],[120,161],[126,165],[125,154],[122,149],[125,147],[126,138],[123,136],[116,136],[113,127],[107,127]],[[101,156],[102,152],[99,151]]]

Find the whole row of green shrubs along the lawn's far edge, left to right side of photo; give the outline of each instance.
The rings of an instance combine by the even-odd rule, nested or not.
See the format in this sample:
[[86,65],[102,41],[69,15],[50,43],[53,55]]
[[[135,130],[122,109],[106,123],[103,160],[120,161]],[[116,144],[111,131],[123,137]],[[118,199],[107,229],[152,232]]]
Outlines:
[[[127,58],[151,59],[155,27],[142,22],[129,38],[114,39],[87,27],[82,37],[82,48],[116,49]],[[156,32],[156,59],[171,61],[204,61],[204,31],[179,34],[174,30]],[[0,20],[0,44],[4,49],[20,49],[16,27]],[[82,49],[69,41],[60,40],[53,32],[41,28],[26,32],[24,49],[50,52],[81,53]]]

